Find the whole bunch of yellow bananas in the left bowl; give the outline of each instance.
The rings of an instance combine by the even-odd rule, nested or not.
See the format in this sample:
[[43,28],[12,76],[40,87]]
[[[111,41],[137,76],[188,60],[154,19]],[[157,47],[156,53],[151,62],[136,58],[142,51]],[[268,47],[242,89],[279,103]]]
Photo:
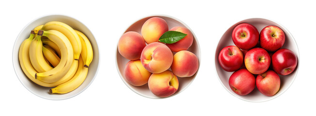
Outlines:
[[89,39],[58,21],[35,27],[19,49],[25,75],[37,85],[53,87],[49,93],[64,94],[78,88],[93,59]]

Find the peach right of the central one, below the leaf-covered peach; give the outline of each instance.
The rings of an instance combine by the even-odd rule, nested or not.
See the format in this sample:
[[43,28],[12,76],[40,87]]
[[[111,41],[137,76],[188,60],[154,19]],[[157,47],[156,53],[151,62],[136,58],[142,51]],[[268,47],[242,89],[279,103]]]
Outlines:
[[182,50],[174,54],[171,65],[172,72],[178,77],[190,77],[199,68],[199,59],[187,50]]

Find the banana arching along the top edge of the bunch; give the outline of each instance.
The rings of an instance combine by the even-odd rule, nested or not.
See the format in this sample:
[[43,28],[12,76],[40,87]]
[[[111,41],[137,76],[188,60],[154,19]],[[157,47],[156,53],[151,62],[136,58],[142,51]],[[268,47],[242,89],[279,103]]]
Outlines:
[[75,60],[79,59],[81,53],[81,42],[78,34],[74,29],[62,22],[51,21],[44,24],[42,30],[57,30],[62,32],[68,38],[72,45]]

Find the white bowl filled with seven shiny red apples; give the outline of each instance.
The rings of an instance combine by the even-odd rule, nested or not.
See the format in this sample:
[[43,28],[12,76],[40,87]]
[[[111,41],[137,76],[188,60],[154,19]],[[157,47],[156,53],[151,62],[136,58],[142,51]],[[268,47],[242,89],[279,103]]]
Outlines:
[[248,102],[265,102],[284,93],[299,69],[299,49],[279,23],[251,18],[231,26],[221,37],[215,68],[222,86]]

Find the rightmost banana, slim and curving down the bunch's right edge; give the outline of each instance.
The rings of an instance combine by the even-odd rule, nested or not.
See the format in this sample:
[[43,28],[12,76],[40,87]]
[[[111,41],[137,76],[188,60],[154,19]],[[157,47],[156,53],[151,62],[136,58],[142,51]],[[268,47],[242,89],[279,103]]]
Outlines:
[[93,50],[91,43],[87,36],[85,36],[82,32],[75,30],[77,34],[79,35],[80,41],[81,41],[81,57],[84,63],[84,67],[88,68],[90,63],[92,62],[93,59]]

